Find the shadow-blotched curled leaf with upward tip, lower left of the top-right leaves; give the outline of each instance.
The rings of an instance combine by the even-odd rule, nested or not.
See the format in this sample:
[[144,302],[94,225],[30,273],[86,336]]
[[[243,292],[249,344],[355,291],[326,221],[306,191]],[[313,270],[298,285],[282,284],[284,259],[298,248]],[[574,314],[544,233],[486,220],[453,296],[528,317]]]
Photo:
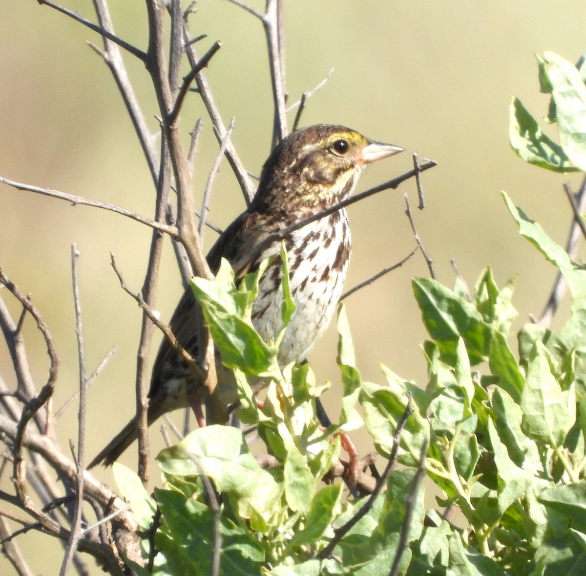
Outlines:
[[554,172],[580,170],[570,163],[564,149],[541,131],[539,124],[518,98],[509,109],[509,140],[519,158]]

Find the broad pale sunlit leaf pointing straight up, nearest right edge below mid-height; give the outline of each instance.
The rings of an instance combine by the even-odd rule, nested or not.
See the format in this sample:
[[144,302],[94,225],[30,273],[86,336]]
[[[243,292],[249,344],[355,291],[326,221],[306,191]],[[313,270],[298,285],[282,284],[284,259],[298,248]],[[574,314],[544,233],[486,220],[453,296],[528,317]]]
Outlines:
[[561,387],[551,374],[546,348],[537,342],[529,358],[521,397],[522,429],[542,445],[558,447],[573,425]]

